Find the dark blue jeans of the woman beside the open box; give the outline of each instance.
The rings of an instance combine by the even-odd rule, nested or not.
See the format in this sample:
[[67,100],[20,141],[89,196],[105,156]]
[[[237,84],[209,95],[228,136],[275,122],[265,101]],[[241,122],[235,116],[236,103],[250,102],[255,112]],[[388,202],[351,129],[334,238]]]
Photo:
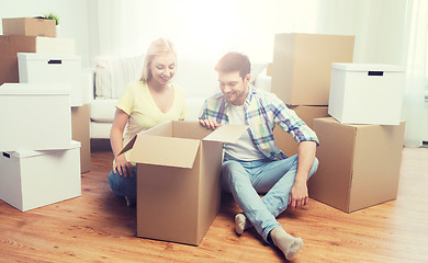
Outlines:
[[120,175],[113,171],[109,174],[110,188],[117,196],[127,196],[131,201],[135,201],[137,197],[137,169],[134,167],[132,176]]

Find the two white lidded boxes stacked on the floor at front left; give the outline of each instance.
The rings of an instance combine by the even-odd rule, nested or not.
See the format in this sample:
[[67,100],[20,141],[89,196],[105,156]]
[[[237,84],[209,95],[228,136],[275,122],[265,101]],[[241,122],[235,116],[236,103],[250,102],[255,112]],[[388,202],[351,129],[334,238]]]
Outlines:
[[79,196],[67,84],[0,87],[0,198],[25,211]]

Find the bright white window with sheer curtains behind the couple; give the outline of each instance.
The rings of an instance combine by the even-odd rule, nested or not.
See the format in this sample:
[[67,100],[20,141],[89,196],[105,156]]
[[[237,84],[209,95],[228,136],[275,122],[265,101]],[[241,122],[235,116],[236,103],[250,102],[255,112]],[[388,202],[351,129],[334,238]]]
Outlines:
[[275,33],[315,33],[318,1],[98,0],[98,5],[99,55],[143,54],[162,36],[182,57],[217,59],[237,50],[268,62]]

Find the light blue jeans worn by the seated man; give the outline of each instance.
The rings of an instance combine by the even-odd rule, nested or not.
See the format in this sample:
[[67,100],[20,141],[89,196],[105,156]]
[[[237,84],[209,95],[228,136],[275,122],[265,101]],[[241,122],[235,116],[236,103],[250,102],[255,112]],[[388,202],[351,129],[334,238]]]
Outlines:
[[[308,179],[317,168],[318,160],[315,158]],[[275,218],[289,205],[296,171],[297,155],[277,161],[239,161],[225,157],[223,188],[233,194],[247,219],[267,242],[269,232],[281,226]],[[266,195],[260,198],[259,194]]]

